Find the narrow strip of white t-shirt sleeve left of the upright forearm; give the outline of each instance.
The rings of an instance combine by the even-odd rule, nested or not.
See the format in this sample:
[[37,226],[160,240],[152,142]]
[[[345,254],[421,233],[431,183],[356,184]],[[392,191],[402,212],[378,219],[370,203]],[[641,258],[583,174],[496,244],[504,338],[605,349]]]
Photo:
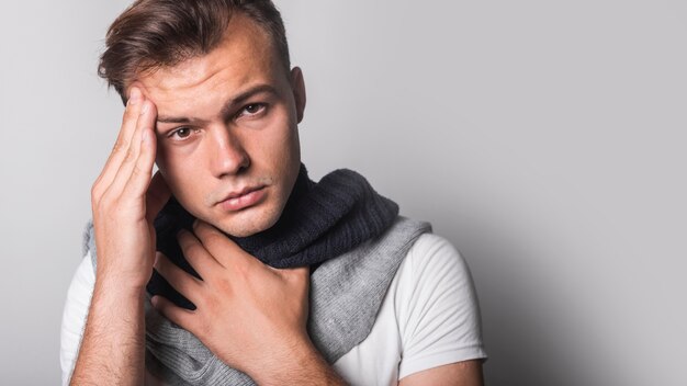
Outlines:
[[91,256],[87,253],[71,279],[63,311],[59,347],[63,385],[69,384],[74,372],[94,285],[95,274]]

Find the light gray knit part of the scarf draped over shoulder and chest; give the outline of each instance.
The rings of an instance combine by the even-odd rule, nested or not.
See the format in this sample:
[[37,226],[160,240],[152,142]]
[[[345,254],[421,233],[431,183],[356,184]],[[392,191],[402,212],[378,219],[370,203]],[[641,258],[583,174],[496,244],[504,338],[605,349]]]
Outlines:
[[[384,295],[401,262],[428,223],[398,216],[379,238],[325,261],[311,275],[307,331],[333,364],[362,342],[374,325]],[[97,253],[92,225],[87,227],[85,250]],[[246,374],[217,359],[191,332],[146,308],[146,367],[169,385],[255,385]],[[266,348],[269,350],[269,348]]]

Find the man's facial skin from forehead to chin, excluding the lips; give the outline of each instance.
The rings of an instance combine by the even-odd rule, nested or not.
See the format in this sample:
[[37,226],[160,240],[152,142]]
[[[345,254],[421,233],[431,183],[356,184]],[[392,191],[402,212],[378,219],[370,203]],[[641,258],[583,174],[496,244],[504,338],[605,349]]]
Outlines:
[[[286,73],[269,42],[258,26],[236,18],[211,54],[135,83],[157,106],[157,164],[174,197],[234,236],[279,219],[301,162],[303,78],[299,68]],[[217,205],[230,192],[259,186],[264,197],[258,205],[234,212]]]

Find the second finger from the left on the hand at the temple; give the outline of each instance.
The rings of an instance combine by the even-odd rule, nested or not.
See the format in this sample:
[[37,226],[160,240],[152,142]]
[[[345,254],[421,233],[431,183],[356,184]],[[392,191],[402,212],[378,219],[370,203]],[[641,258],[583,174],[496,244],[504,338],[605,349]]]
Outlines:
[[[126,151],[126,156],[120,166],[120,170],[117,170],[112,184],[109,188],[109,191],[112,192],[115,196],[120,196],[126,184],[129,182],[134,170],[137,172],[137,178],[145,180],[144,186],[147,189],[147,184],[150,182],[150,173],[153,171],[153,163],[155,162],[155,136],[149,135],[149,130],[153,128],[153,121],[155,120],[155,105],[150,101],[144,101],[143,107],[140,110],[140,115],[138,116],[138,122],[136,123],[136,130],[132,137],[131,146]],[[148,129],[148,130],[146,130]],[[144,133],[146,134],[144,136]],[[145,139],[145,144],[144,144]],[[153,149],[153,154],[148,154],[147,157],[140,158],[138,154],[140,151],[142,145],[146,149]],[[150,159],[151,158],[151,159]],[[145,175],[144,168],[138,162],[147,162],[150,164],[150,171]],[[138,168],[138,169],[135,169]],[[145,177],[145,178],[144,178]],[[143,193],[145,189],[140,190],[140,184],[136,185],[138,188],[137,191],[128,191],[128,193],[134,193],[134,197],[143,197]],[[131,197],[131,196],[129,196]]]

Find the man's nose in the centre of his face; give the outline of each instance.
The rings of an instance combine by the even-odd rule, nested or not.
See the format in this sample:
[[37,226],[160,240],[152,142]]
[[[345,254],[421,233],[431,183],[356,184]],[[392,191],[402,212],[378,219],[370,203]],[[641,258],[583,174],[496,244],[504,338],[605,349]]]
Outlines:
[[241,138],[232,135],[227,127],[211,129],[209,139],[211,170],[215,177],[234,175],[250,166]]

